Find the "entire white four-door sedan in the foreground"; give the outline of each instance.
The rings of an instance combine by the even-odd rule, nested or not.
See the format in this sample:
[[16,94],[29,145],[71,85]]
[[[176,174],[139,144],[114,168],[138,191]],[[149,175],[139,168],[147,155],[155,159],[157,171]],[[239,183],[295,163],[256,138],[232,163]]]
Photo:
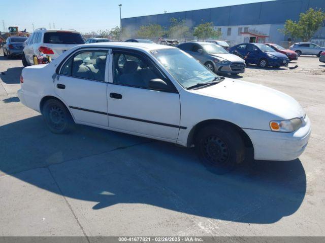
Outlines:
[[24,68],[20,83],[20,101],[41,112],[53,133],[83,124],[194,146],[221,172],[243,161],[245,147],[255,159],[296,159],[311,132],[295,99],[218,76],[170,46],[77,46]]

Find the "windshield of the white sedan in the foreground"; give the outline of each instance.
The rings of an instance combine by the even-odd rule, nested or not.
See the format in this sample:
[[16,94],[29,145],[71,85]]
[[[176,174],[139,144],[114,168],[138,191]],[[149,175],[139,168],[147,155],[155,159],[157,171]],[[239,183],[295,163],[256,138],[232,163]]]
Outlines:
[[199,61],[179,49],[154,50],[151,54],[184,88],[212,82],[218,77]]

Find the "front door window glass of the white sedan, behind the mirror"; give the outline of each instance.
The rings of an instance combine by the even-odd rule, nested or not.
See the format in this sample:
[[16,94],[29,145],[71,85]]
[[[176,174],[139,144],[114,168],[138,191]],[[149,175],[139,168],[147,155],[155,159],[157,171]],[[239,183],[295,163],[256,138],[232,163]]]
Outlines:
[[137,54],[114,52],[113,83],[149,89],[151,79],[165,79],[153,64]]

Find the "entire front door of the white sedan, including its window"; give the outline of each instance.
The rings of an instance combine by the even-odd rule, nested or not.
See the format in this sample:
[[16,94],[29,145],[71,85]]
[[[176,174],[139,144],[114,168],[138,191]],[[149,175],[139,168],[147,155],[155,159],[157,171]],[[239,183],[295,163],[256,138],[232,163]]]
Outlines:
[[[113,51],[108,84],[109,127],[176,141],[180,126],[179,94],[170,80],[145,54]],[[173,91],[151,89],[160,78]]]

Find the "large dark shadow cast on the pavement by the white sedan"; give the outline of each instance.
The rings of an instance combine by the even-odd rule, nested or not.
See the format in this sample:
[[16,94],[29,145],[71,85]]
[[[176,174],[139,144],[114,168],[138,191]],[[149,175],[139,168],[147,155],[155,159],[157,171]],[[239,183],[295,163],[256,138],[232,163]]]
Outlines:
[[[193,149],[85,126],[55,135],[40,115],[0,127],[0,137],[0,176],[11,174],[67,198],[88,201],[93,210],[145,204],[269,224],[294,214],[306,193],[299,159],[251,161],[233,173],[216,175]],[[45,182],[44,174],[53,183]]]

